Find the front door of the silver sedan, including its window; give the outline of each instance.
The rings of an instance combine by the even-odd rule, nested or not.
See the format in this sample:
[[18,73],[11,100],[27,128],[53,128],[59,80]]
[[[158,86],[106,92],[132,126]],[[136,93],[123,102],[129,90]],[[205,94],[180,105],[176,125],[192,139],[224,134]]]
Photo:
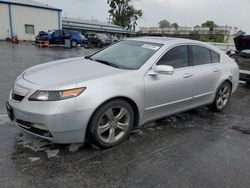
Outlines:
[[186,110],[192,101],[193,73],[187,45],[173,47],[156,64],[173,66],[175,72],[145,75],[145,121]]

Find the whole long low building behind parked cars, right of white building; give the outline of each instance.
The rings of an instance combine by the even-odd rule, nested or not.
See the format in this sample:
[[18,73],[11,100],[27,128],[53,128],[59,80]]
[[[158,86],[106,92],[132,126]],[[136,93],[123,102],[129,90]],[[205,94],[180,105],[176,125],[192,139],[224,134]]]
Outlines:
[[91,32],[102,32],[109,35],[127,36],[129,34],[135,34],[134,31],[126,30],[121,26],[117,26],[111,23],[102,22],[98,20],[84,20],[77,18],[64,17],[62,19],[62,27],[65,30],[79,31],[82,34]]

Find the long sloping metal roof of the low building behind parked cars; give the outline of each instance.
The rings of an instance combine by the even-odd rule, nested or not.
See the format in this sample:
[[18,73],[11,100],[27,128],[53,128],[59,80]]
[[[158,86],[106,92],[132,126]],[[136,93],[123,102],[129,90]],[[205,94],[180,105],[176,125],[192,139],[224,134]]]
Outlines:
[[63,28],[67,29],[83,29],[90,31],[104,31],[113,33],[133,33],[121,26],[98,20],[85,20],[78,18],[64,17],[62,21]]

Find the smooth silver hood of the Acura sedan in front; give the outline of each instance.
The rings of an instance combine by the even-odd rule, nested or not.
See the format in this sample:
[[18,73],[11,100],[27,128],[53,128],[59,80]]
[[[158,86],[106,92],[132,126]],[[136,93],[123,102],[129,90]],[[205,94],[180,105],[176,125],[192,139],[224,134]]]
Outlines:
[[124,71],[126,70],[80,57],[31,67],[24,72],[23,78],[42,87],[62,87],[63,85],[112,76]]

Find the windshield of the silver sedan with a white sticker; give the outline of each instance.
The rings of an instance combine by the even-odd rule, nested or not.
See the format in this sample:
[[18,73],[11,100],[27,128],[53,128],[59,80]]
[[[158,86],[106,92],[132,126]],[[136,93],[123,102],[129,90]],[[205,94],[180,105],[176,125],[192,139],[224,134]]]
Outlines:
[[92,60],[108,62],[119,68],[139,69],[162,44],[121,41],[91,56]]

